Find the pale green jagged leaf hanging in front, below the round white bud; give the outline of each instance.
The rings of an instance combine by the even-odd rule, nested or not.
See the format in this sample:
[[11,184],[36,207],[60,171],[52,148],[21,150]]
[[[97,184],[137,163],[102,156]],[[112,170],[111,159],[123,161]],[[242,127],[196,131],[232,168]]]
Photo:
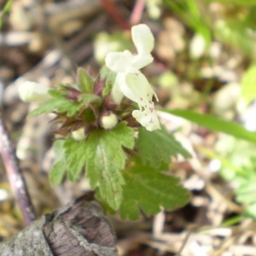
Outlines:
[[133,129],[125,122],[119,123],[113,130],[92,131],[86,141],[86,177],[90,186],[99,192],[104,201],[114,210],[122,201],[124,178],[121,170],[125,167],[124,148],[133,148]]

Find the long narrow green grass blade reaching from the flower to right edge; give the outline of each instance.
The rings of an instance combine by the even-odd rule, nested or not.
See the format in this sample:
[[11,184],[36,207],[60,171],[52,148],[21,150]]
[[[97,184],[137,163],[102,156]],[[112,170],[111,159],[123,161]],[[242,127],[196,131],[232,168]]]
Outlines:
[[195,122],[196,124],[204,126],[212,131],[224,132],[228,135],[246,140],[250,143],[256,143],[255,132],[247,131],[241,125],[238,125],[234,122],[225,121],[224,119],[219,119],[218,117],[209,114],[196,113],[190,110],[171,110],[168,108],[161,108],[161,111],[166,113],[172,113],[184,119],[188,119],[189,121]]

